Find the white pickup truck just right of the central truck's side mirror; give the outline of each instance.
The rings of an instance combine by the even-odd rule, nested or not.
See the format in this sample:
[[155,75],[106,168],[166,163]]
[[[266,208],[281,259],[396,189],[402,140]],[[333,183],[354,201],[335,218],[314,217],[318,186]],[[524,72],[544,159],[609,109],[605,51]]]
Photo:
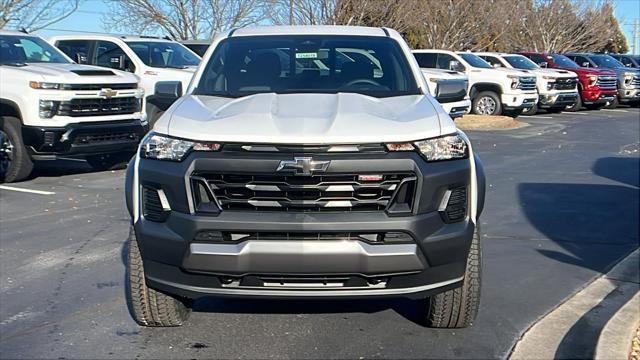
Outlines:
[[469,77],[471,111],[481,115],[518,116],[538,102],[536,78],[516,69],[495,69],[470,52],[414,50],[421,68],[463,72]]

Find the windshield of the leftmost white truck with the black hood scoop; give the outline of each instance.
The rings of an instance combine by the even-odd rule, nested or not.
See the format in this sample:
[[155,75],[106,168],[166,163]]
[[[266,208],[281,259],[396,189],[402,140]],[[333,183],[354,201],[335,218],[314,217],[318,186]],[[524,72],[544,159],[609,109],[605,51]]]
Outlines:
[[70,64],[62,53],[36,36],[0,35],[0,64]]

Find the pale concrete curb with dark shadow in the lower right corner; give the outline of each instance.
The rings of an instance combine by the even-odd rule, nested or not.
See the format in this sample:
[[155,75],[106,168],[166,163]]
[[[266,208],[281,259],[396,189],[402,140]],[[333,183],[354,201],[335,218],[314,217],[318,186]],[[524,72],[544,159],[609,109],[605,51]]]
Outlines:
[[639,259],[636,249],[540,318],[516,342],[509,358],[628,359],[640,317]]

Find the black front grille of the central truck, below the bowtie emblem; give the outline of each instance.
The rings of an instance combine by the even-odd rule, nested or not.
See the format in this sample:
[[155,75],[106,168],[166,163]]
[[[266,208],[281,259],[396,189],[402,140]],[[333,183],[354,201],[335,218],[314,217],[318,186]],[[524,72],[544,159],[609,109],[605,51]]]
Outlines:
[[[196,208],[217,202],[222,210],[258,211],[382,211],[394,196],[411,211],[413,174],[247,175],[192,176]],[[200,190],[202,184],[207,190]],[[208,199],[208,194],[215,199]],[[407,194],[407,192],[411,192]],[[395,205],[395,201],[393,205]],[[394,206],[394,210],[395,210]]]

